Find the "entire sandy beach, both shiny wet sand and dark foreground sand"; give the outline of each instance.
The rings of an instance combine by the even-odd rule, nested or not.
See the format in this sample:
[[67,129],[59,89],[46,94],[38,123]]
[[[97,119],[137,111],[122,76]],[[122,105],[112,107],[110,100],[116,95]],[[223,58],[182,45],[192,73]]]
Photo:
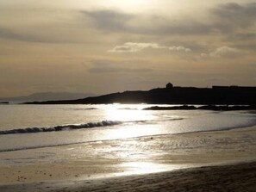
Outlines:
[[2,152],[0,158],[10,162],[0,166],[1,192],[256,189],[256,127]]

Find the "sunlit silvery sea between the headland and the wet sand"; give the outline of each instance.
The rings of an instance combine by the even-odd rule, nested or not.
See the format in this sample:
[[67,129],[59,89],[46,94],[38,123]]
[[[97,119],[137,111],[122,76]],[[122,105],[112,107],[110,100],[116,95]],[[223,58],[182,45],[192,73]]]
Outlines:
[[153,106],[0,105],[0,152],[256,125],[256,114],[248,111],[143,110]]

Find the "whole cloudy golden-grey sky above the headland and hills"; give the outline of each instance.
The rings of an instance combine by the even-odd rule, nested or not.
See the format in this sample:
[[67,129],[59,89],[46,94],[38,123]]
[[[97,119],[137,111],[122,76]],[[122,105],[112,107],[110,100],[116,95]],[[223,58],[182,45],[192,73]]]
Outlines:
[[256,1],[0,0],[0,97],[256,85]]

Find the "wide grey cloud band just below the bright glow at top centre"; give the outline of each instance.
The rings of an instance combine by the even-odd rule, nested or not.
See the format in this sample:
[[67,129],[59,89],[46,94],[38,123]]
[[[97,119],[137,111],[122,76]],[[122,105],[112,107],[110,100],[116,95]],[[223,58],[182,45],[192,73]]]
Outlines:
[[[162,15],[128,14],[116,10],[81,11],[95,28],[112,33],[205,34],[209,24],[190,19],[170,20]],[[148,22],[150,21],[150,22]]]

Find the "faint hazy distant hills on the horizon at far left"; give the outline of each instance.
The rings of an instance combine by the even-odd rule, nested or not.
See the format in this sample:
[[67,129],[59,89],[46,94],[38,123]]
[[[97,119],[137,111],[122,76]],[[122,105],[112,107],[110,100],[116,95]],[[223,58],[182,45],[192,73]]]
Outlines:
[[59,100],[75,100],[88,96],[96,96],[95,94],[69,93],[69,92],[42,92],[34,93],[29,96],[16,96],[0,98],[0,102],[43,102],[43,101],[59,101]]

